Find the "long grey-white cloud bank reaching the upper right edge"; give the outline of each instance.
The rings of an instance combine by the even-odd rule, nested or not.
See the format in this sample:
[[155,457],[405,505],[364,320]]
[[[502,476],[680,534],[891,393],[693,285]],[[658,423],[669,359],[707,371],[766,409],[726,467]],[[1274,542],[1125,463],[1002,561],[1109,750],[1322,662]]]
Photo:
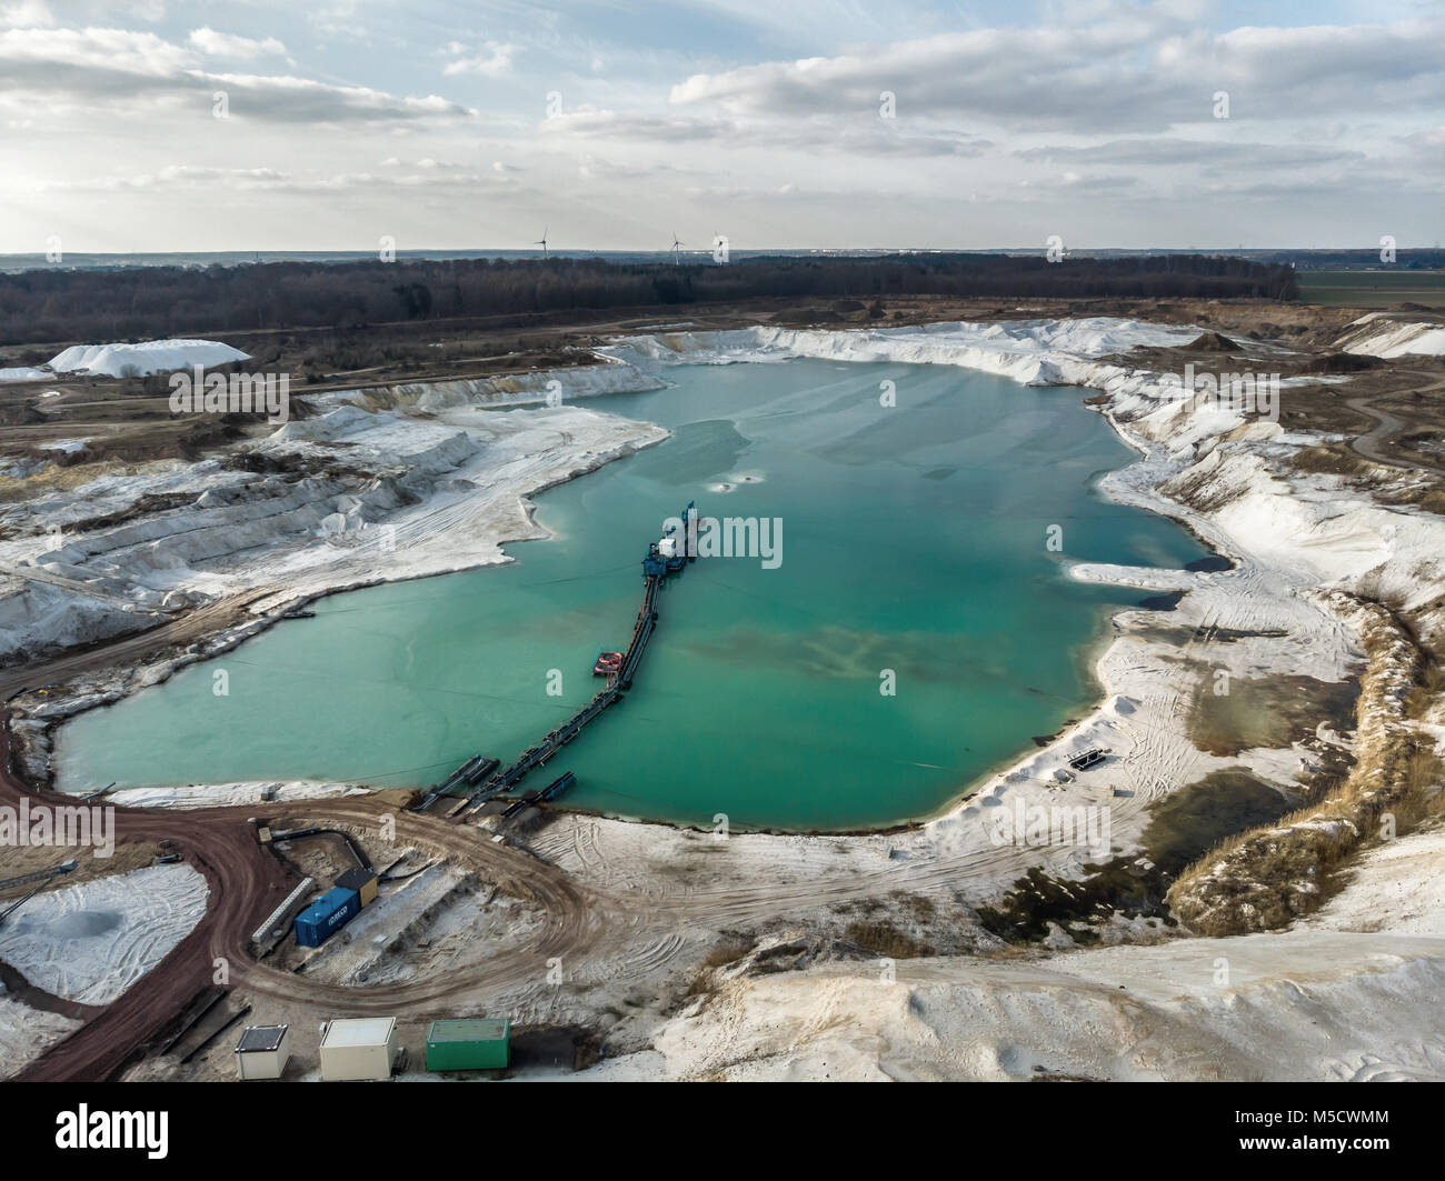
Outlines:
[[1220,88],[1231,91],[1234,116],[1254,120],[1445,101],[1445,20],[1160,36],[1165,10],[1107,7],[1110,19],[1074,26],[939,33],[867,53],[696,74],[670,100],[736,116],[857,118],[892,91],[899,118],[1105,134],[1208,121]]

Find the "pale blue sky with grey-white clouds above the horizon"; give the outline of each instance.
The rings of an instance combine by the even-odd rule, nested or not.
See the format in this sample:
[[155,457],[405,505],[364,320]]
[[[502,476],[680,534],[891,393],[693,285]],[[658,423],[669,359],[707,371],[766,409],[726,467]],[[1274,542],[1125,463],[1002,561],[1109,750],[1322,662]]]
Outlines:
[[0,253],[1432,245],[1445,6],[0,0]]

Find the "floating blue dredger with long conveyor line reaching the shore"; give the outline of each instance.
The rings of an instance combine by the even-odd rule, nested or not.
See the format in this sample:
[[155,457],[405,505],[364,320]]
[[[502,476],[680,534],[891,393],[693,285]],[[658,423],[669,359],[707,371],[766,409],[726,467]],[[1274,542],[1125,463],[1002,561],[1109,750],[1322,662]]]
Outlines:
[[[467,762],[452,771],[445,780],[432,787],[426,796],[422,797],[422,800],[415,806],[418,811],[431,807],[439,796],[455,791],[460,787],[468,787],[473,790],[458,800],[447,816],[457,816],[468,809],[480,807],[488,800],[512,791],[529,771],[546,764],[552,755],[577,738],[588,722],[600,718],[608,706],[616,705],[621,699],[621,694],[626,690],[631,689],[633,677],[637,674],[637,666],[642,663],[643,650],[647,647],[653,628],[657,625],[657,589],[663,582],[666,582],[668,575],[676,573],[691,560],[686,553],[686,544],[679,543],[685,543],[686,531],[695,515],[696,510],[694,508],[692,501],[688,501],[688,507],[682,513],[683,536],[675,536],[678,533],[678,526],[673,524],[660,540],[653,541],[647,547],[647,556],[642,560],[642,608],[637,611],[637,622],[633,624],[633,634],[631,640],[627,642],[627,650],[624,653],[603,653],[597,658],[597,664],[592,668],[592,671],[598,676],[607,677],[607,687],[577,713],[568,718],[561,726],[548,733],[546,738],[535,746],[529,746],[523,751],[517,761],[510,767],[499,771],[499,759],[487,758],[480,754],[467,759]],[[575,777],[571,771],[568,771],[565,775],[553,780],[542,788],[542,791],[513,801],[503,816],[513,816],[530,803],[552,800],[575,783]]]

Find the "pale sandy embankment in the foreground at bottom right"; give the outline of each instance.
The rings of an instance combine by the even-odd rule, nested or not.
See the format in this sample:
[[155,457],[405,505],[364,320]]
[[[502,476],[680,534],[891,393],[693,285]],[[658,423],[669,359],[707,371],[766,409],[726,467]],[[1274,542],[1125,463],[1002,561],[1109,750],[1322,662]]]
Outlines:
[[738,976],[588,1077],[1445,1078],[1442,863],[1406,836],[1276,934]]

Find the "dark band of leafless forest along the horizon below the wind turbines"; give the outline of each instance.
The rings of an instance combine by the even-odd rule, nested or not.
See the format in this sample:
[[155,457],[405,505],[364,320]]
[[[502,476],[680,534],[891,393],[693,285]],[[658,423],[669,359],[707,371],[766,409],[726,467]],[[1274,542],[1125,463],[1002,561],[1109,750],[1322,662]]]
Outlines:
[[280,261],[210,267],[40,269],[0,276],[0,341],[133,341],[276,328],[520,316],[754,297],[1295,299],[1289,266],[1204,254],[1065,258],[997,254]]

